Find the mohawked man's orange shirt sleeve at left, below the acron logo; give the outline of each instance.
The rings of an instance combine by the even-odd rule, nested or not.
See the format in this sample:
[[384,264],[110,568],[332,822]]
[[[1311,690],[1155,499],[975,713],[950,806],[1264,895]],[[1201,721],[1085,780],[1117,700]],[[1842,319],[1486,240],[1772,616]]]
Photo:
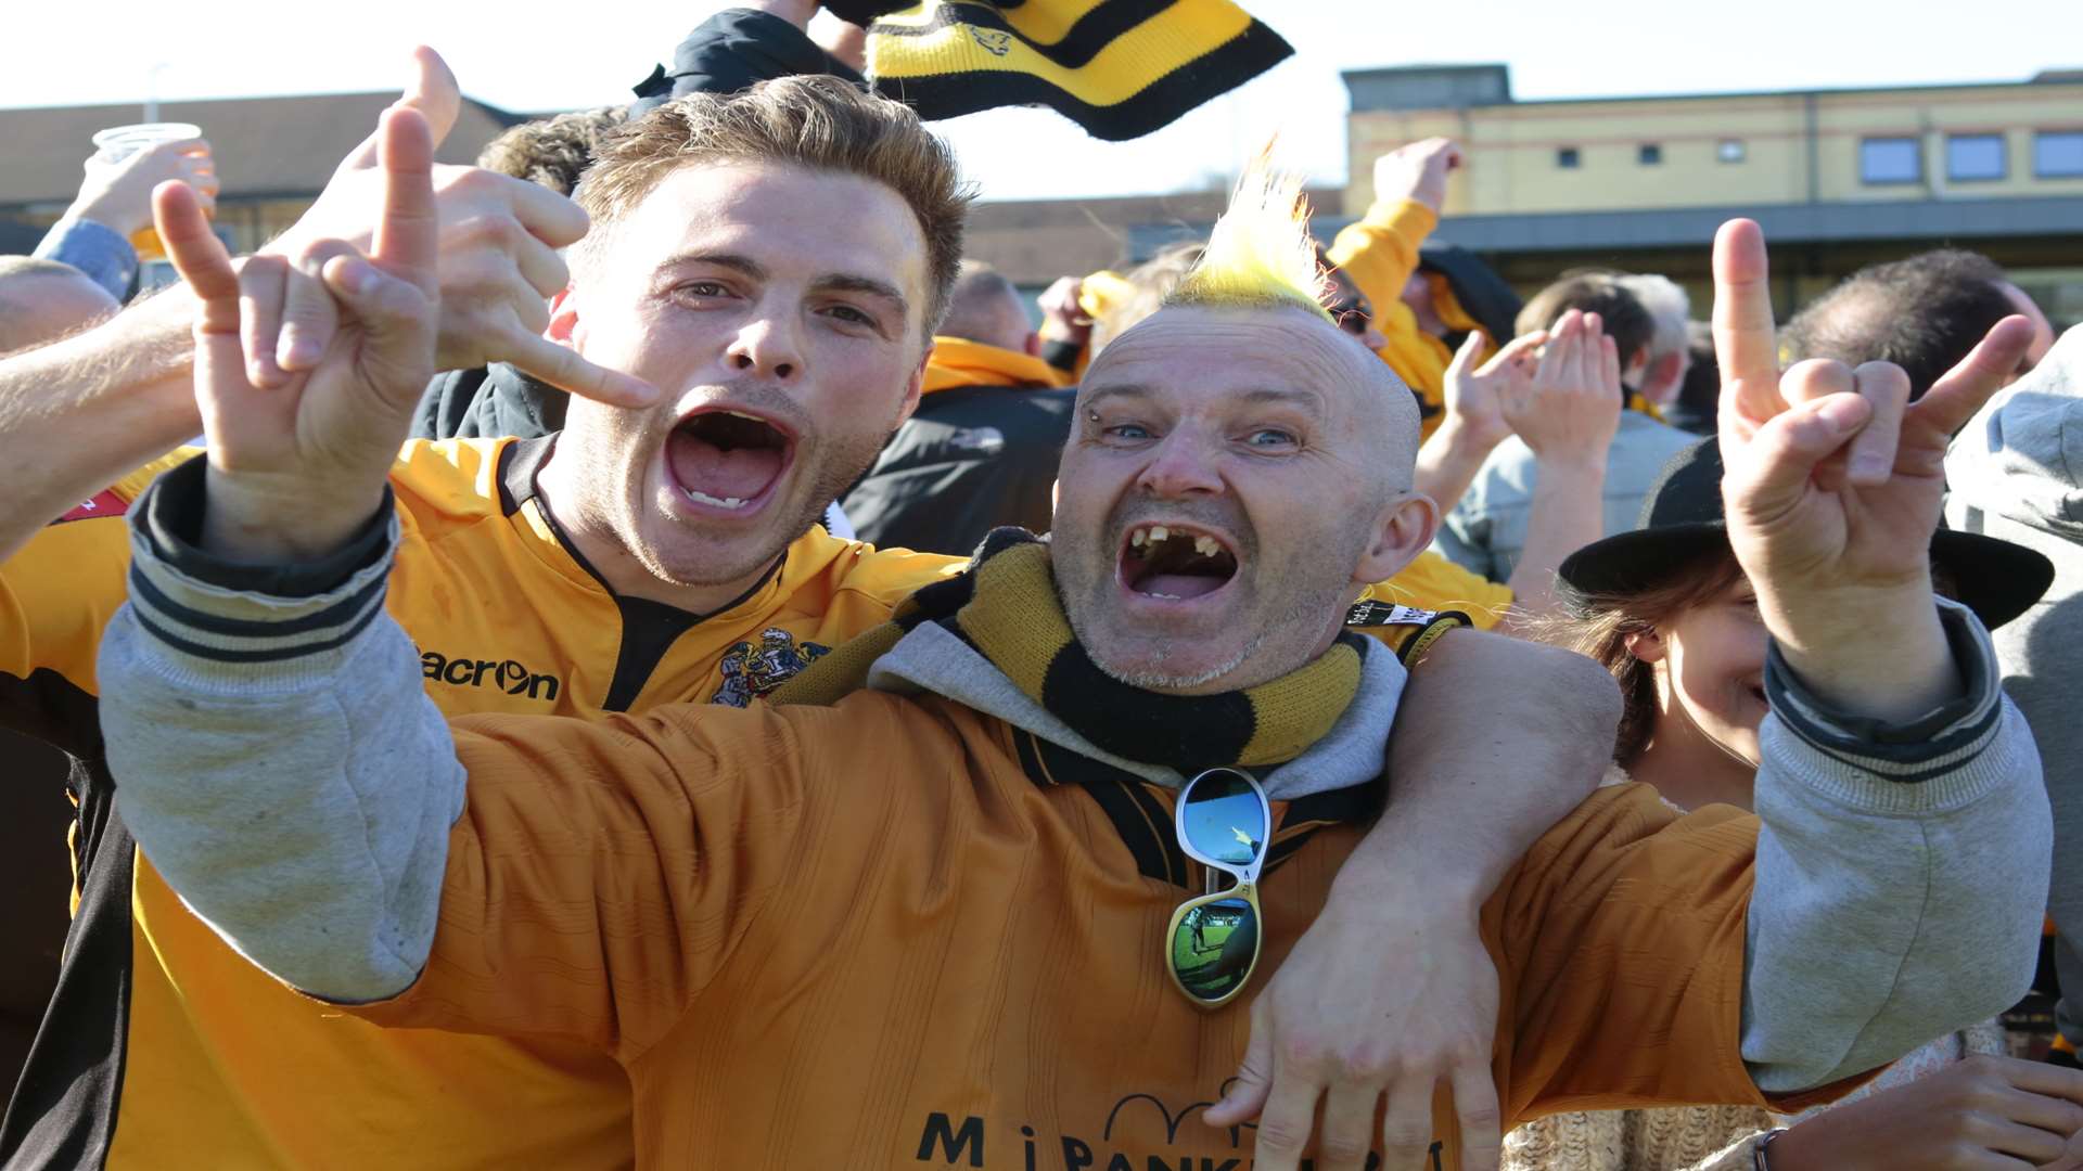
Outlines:
[[433,954],[383,1025],[662,1036],[792,869],[796,725],[767,706],[454,723],[469,771]]

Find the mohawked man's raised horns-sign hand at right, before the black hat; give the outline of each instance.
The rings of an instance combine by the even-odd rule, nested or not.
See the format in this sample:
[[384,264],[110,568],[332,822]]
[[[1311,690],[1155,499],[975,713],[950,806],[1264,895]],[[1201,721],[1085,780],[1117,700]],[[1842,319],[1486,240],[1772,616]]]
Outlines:
[[1725,223],[1714,352],[1729,544],[1810,688],[1856,715],[1921,715],[1960,686],[1931,602],[1946,444],[2016,369],[2033,327],[1996,323],[1910,402],[1908,375],[1887,363],[1812,360],[1781,375],[1766,275],[1758,225]]

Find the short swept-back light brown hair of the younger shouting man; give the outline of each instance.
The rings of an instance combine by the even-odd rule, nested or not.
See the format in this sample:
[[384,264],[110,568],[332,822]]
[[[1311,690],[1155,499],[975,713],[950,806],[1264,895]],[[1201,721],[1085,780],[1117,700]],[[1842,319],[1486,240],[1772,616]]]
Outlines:
[[577,260],[600,250],[612,225],[667,175],[698,163],[787,163],[856,175],[904,198],[925,238],[931,335],[948,313],[962,263],[962,221],[973,198],[954,152],[902,102],[877,98],[837,77],[777,77],[739,94],[689,94],[602,135],[598,158],[573,192],[594,231],[573,246]]

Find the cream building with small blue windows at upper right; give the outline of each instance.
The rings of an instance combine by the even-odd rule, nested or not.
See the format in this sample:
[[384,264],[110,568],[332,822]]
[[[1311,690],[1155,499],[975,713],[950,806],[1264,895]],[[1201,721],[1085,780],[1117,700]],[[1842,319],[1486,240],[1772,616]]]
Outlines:
[[1666,273],[1698,306],[1714,227],[1752,217],[1775,304],[1941,244],[1989,254],[2058,323],[2083,321],[2083,71],[1891,90],[1512,100],[1504,65],[1346,73],[1346,206],[1373,158],[1450,135],[1469,154],[1441,240],[1537,288],[1583,265]]

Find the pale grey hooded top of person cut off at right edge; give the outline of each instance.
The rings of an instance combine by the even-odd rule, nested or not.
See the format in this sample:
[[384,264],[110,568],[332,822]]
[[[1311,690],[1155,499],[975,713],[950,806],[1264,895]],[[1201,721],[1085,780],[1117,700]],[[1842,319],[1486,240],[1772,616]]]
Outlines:
[[[2056,967],[2062,988],[2083,992],[2083,327],[1960,431],[1946,479],[1948,523],[2054,563],[2054,588],[1996,631],[1996,654],[2046,758],[2060,846],[2050,898]],[[2062,1002],[2060,1025],[2083,1044],[2083,1008],[2073,1000]]]

